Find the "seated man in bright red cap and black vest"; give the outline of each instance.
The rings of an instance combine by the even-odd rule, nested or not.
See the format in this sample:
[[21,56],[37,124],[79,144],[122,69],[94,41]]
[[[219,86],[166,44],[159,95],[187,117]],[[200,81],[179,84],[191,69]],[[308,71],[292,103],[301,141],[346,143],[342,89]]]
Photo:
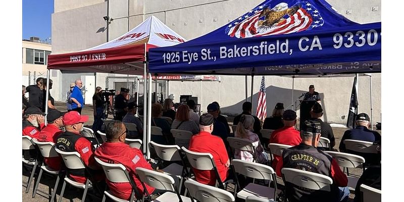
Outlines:
[[[88,116],[80,115],[77,111],[70,111],[63,116],[62,120],[66,132],[61,133],[56,138],[55,147],[62,151],[77,151],[94,180],[103,180],[105,178],[104,172],[94,160],[93,146],[90,141],[80,134],[84,123],[88,121]],[[84,169],[67,169],[67,175],[79,183],[85,183],[87,177],[89,177],[85,174]],[[92,179],[90,178],[90,180]]]

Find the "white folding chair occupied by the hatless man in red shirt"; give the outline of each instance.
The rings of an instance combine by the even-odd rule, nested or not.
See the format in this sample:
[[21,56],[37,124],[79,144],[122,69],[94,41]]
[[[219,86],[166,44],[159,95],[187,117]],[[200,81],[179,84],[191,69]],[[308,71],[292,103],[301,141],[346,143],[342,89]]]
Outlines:
[[122,201],[131,202],[134,199],[136,199],[136,195],[138,195],[138,196],[141,195],[136,188],[135,182],[129,176],[129,173],[126,170],[125,166],[123,166],[122,164],[105,163],[105,162],[99,160],[97,157],[94,157],[94,159],[99,165],[101,165],[101,167],[103,167],[105,176],[110,182],[115,182],[115,183],[127,182],[132,185],[132,193],[130,194],[130,200],[118,198],[118,197],[114,196],[111,191],[104,191],[103,202],[105,202],[106,196],[108,196],[109,198],[111,198],[112,200],[117,201],[117,202],[122,202]]

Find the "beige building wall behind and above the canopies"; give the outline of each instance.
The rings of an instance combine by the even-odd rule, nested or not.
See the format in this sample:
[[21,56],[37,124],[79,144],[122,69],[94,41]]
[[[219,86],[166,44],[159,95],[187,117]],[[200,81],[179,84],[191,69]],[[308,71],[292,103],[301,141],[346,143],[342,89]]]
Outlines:
[[[52,15],[52,38],[54,53],[80,51],[114,39],[134,28],[147,17],[154,15],[168,27],[190,40],[209,33],[254,8],[263,0],[115,0],[115,1],[55,1]],[[328,0],[341,15],[358,23],[381,21],[380,0]],[[107,9],[109,8],[109,9]],[[113,19],[107,29],[103,16]],[[107,37],[108,35],[108,37]],[[97,73],[96,83],[105,87],[106,76]],[[123,76],[123,75],[120,75]],[[170,81],[170,94],[179,102],[181,94],[198,96],[206,112],[209,103],[217,101],[223,113],[237,114],[245,100],[244,76],[221,76],[221,82],[175,82]],[[271,115],[277,102],[285,107],[314,84],[323,98],[324,120],[345,123],[349,107],[353,76],[344,78],[295,78],[292,97],[292,82],[289,77],[266,76],[267,114]],[[251,94],[251,78],[247,78],[248,99]],[[261,76],[254,77],[253,105]],[[54,85],[55,86],[55,85]],[[381,74],[372,75],[374,123],[381,120]],[[56,89],[54,89],[56,90]],[[62,92],[60,94],[63,94]],[[55,97],[57,99],[57,97]],[[359,111],[370,111],[370,77],[359,79]],[[255,109],[253,110],[255,111]]]

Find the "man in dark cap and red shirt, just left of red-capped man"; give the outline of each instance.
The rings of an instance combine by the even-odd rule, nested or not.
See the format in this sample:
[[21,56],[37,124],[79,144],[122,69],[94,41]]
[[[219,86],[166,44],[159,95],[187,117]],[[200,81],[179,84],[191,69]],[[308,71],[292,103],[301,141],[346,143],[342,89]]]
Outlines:
[[[63,126],[63,115],[58,110],[51,110],[46,116],[47,125],[39,132],[37,137],[40,142],[56,143],[56,138],[63,133],[60,127]],[[46,165],[54,170],[60,170],[62,159],[60,157],[43,158]]]

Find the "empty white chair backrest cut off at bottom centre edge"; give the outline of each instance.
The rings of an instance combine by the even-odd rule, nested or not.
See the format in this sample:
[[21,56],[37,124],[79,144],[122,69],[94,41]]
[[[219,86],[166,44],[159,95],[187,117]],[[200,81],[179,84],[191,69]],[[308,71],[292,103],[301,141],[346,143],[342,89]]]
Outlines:
[[189,195],[199,202],[232,202],[234,196],[232,193],[206,184],[201,184],[194,180],[186,180],[185,187]]

